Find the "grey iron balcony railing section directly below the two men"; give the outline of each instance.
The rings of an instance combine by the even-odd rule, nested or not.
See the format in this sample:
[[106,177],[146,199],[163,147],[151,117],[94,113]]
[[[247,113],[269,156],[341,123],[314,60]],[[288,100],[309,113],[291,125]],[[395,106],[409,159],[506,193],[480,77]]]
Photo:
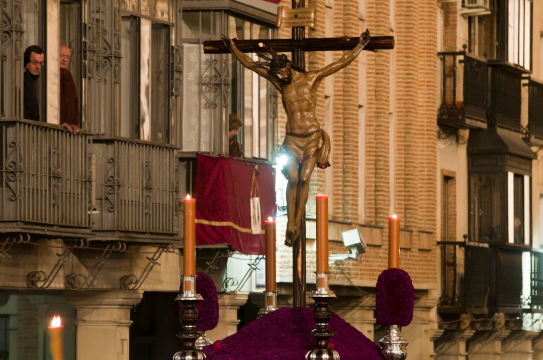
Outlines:
[[2,232],[89,237],[90,137],[0,121]]

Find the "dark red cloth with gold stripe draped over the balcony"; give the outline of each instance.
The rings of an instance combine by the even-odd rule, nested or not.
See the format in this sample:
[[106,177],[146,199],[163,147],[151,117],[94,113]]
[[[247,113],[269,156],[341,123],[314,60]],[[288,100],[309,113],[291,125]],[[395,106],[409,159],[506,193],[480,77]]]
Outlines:
[[[251,233],[251,189],[260,190],[261,233]],[[275,169],[223,157],[198,155],[196,245],[223,244],[243,254],[264,255],[264,220],[275,218]]]

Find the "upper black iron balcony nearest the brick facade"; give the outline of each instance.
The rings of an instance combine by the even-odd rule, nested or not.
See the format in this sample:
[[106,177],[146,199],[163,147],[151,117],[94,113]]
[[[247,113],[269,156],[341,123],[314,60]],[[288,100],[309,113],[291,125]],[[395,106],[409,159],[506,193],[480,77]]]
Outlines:
[[438,125],[487,127],[487,63],[465,52],[438,57],[443,72]]

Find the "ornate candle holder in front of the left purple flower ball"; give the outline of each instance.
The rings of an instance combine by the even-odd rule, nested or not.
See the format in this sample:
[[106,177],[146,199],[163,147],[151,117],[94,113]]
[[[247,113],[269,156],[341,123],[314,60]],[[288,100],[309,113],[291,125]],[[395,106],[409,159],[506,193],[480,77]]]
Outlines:
[[[178,351],[173,356],[173,360],[204,360],[205,353],[201,352],[196,347],[197,339],[202,335],[201,331],[196,330],[198,323],[198,309],[194,306],[197,301],[204,300],[200,294],[195,293],[196,275],[183,277],[183,293],[179,294],[175,300],[183,303],[183,308],[180,311],[181,323],[183,330],[178,335],[183,342],[183,349]],[[188,284],[188,286],[187,286]]]

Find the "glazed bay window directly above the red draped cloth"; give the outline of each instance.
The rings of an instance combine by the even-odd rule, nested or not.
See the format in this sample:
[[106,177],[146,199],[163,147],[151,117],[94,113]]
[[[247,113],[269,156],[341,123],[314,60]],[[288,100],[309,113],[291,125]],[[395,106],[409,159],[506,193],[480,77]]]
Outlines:
[[[228,151],[228,116],[243,121],[237,141],[245,157],[271,158],[274,149],[276,91],[264,78],[244,68],[230,54],[204,54],[201,43],[231,38],[271,38],[271,27],[222,11],[186,11],[183,14],[184,56],[183,124],[184,151]],[[247,54],[259,60],[256,54]],[[211,136],[210,136],[211,134]]]

